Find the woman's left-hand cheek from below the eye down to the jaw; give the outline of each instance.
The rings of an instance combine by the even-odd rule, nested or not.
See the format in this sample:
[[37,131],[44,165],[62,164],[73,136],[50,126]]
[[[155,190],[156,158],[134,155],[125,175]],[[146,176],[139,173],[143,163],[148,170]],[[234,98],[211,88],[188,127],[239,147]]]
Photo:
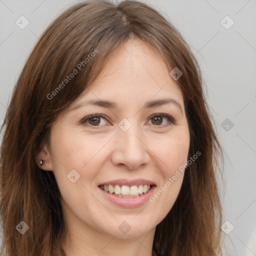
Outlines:
[[[95,161],[95,159],[98,159],[100,149],[102,149],[105,142],[102,139],[95,140],[93,136],[82,136],[61,129],[52,132],[52,134],[51,160],[54,176],[64,202],[63,205],[74,214],[77,214],[80,210],[85,212],[89,205],[98,203],[91,196],[90,182],[99,169],[96,164],[100,164],[100,161]],[[72,175],[69,173],[72,173]],[[71,176],[75,176],[74,183],[68,179]],[[86,200],[82,201],[82,205],[81,200],[84,198]]]

